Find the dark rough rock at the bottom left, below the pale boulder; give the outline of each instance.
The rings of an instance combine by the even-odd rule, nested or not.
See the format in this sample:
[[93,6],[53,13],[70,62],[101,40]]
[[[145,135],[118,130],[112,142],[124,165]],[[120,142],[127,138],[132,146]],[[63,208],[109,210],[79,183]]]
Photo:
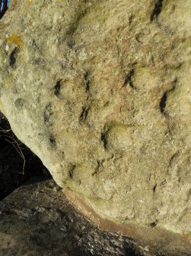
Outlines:
[[131,239],[95,228],[53,180],[21,186],[0,202],[0,256],[21,255],[155,256]]

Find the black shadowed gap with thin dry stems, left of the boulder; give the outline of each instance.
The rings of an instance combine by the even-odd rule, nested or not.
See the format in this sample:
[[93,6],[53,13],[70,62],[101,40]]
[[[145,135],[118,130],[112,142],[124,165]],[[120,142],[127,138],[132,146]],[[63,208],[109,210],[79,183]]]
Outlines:
[[0,112],[0,200],[33,177],[47,178],[50,174],[41,160],[18,140]]

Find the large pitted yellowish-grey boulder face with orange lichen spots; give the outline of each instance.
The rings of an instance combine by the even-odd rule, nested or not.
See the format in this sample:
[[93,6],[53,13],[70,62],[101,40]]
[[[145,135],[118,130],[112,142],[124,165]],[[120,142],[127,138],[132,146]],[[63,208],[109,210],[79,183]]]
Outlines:
[[14,1],[1,110],[103,218],[191,232],[189,0]]

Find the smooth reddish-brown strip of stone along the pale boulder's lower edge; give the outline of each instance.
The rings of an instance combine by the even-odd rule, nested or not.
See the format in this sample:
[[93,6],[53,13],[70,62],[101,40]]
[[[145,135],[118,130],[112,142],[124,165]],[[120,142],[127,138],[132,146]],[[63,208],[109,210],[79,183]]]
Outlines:
[[103,219],[97,215],[88,204],[85,203],[81,196],[71,190],[63,190],[63,193],[82,214],[91,222],[94,222],[98,228],[108,232],[125,235],[137,242],[144,248],[157,250],[158,253],[167,253],[170,256],[186,256],[191,254],[191,235],[179,235],[168,232],[164,229],[142,227],[132,223],[117,224],[108,219]]

